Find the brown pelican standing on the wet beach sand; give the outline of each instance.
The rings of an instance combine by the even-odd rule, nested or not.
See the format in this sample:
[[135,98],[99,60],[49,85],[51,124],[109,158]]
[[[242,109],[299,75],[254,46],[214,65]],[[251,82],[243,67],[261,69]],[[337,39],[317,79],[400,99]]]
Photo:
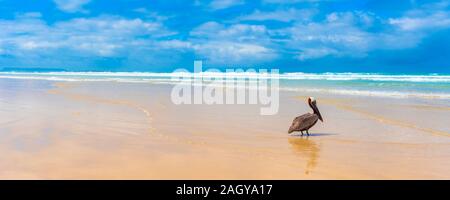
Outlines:
[[300,131],[303,135],[303,131],[306,131],[306,134],[309,135],[308,130],[316,124],[317,120],[323,122],[322,115],[320,115],[319,109],[316,105],[316,100],[314,97],[308,98],[308,104],[311,109],[313,109],[314,113],[306,113],[300,115],[292,121],[291,127],[289,127],[288,133],[292,133],[294,131]]

